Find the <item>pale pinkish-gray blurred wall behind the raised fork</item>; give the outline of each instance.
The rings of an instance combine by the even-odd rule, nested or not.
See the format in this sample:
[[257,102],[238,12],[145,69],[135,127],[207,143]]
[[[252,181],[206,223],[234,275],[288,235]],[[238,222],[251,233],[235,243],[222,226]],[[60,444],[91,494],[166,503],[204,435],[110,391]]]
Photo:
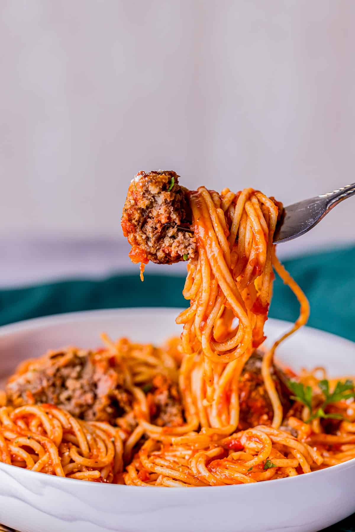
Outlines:
[[[352,0],[2,0],[0,237],[116,238],[129,180],[355,181]],[[354,202],[288,251],[354,239]]]

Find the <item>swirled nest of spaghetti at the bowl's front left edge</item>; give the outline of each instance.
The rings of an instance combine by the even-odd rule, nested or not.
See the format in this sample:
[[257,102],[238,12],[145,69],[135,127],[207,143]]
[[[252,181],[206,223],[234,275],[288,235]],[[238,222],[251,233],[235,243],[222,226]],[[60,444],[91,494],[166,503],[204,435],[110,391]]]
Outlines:
[[83,422],[54,405],[0,409],[0,461],[58,477],[117,482],[123,469],[119,429]]

